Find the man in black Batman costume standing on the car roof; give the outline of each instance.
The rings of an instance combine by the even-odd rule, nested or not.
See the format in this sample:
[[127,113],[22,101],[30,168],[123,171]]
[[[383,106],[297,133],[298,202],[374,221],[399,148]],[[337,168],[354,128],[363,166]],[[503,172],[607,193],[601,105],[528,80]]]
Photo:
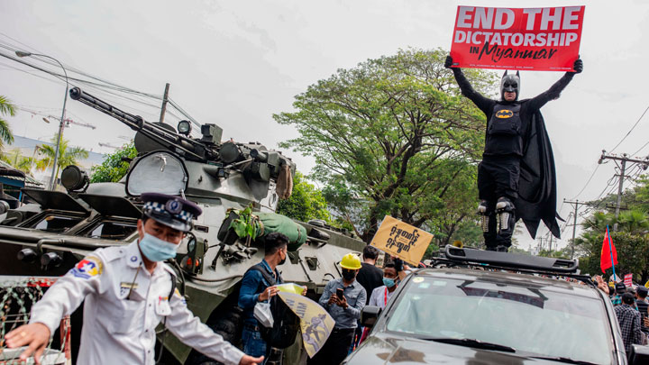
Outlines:
[[[451,56],[444,67],[452,67]],[[533,238],[541,220],[559,238],[554,157],[540,108],[557,99],[583,70],[581,59],[575,60],[572,68],[574,71],[566,72],[550,89],[525,100],[518,100],[518,72],[505,71],[500,101],[480,95],[462,68],[452,68],[462,95],[487,115],[485,150],[478,167],[478,213],[489,251],[507,252],[518,219],[523,219]]]

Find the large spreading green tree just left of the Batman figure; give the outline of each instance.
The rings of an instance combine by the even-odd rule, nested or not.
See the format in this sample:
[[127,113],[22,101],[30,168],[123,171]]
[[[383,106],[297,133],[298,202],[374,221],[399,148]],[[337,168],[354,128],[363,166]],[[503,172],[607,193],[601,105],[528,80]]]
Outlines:
[[[273,115],[300,134],[280,145],[315,157],[313,178],[365,241],[386,214],[450,237],[475,208],[485,116],[443,68],[446,54],[400,50],[339,69],[296,96],[296,112]],[[495,89],[491,73],[467,77]]]

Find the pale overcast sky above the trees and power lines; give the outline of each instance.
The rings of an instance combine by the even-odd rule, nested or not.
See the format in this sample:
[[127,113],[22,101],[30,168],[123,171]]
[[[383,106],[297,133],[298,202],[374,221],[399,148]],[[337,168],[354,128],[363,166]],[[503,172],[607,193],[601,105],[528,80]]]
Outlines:
[[[170,96],[199,123],[219,124],[224,138],[277,148],[297,132],[271,115],[290,111],[294,96],[337,68],[399,49],[448,50],[458,5],[586,5],[580,45],[584,72],[542,111],[557,165],[559,205],[563,198],[599,196],[615,174],[612,162],[600,166],[577,194],[601,150],[611,151],[649,106],[646,1],[5,0],[0,3],[0,45],[47,54],[66,67],[150,94],[161,95],[169,82]],[[6,48],[0,52],[11,54]],[[38,59],[26,60],[58,71]],[[521,96],[535,96],[560,77],[522,72]],[[0,95],[23,108],[58,116],[64,87],[56,78],[0,58]],[[151,104],[142,105],[95,94],[146,120],[159,117],[160,103],[154,99],[142,98]],[[69,101],[67,110],[75,121],[96,126],[73,125],[65,131],[65,138],[88,150],[110,152],[98,143],[120,145],[121,136],[133,136],[78,102]],[[167,121],[178,119],[168,114]],[[56,132],[56,121],[44,123],[41,115],[21,112],[9,122],[14,133],[44,141]],[[614,152],[632,153],[648,141],[646,115]],[[314,166],[308,157],[288,154],[303,172]],[[647,154],[649,146],[637,153]],[[569,211],[562,205],[562,216]],[[570,236],[568,227],[564,237]],[[522,242],[526,246],[530,240]]]

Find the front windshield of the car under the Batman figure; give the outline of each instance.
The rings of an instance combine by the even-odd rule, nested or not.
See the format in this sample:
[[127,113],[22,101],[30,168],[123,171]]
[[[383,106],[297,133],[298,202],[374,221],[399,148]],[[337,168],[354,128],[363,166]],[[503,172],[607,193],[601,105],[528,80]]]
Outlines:
[[603,304],[594,298],[480,279],[412,278],[388,318],[388,331],[471,339],[530,356],[612,363]]

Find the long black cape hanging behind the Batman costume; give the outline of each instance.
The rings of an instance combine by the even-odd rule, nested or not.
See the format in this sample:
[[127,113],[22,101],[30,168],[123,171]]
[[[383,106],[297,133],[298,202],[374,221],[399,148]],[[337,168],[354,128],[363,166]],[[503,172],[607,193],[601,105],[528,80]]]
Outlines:
[[[520,162],[516,221],[522,219],[532,238],[543,221],[554,237],[561,238],[556,212],[556,173],[550,138],[540,111],[532,115]],[[563,220],[562,220],[563,221]]]

